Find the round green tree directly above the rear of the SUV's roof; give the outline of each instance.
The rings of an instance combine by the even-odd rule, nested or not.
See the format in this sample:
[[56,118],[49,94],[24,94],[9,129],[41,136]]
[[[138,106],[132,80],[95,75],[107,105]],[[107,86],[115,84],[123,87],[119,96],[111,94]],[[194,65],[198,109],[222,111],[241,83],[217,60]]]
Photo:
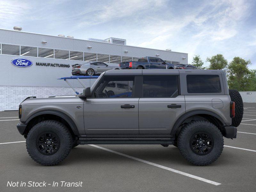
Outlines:
[[207,62],[210,62],[208,69],[223,70],[228,65],[228,60],[226,60],[222,54],[213,55],[212,57],[206,58]]

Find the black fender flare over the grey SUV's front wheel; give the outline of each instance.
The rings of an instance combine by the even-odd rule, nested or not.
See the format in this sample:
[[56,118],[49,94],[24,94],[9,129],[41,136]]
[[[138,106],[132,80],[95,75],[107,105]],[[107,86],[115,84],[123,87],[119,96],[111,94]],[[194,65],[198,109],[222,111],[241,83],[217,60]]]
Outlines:
[[29,123],[29,121],[31,121],[33,118],[37,117],[37,116],[40,116],[40,115],[56,115],[56,116],[59,116],[61,117],[62,119],[64,119],[68,125],[70,126],[70,128],[72,129],[73,133],[75,135],[79,135],[78,133],[78,130],[77,130],[77,127],[76,127],[76,124],[73,122],[73,120],[67,116],[66,114],[60,112],[60,111],[55,111],[55,110],[44,110],[44,111],[39,111],[39,112],[36,112],[35,114],[33,114],[32,116],[30,116],[28,118],[28,120],[26,121],[26,124]]

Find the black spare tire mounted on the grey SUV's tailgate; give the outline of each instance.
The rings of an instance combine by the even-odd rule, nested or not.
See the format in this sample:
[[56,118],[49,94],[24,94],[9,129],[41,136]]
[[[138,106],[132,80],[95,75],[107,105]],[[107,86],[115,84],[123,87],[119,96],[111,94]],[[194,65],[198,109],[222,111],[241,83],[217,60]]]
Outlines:
[[235,102],[235,117],[232,118],[232,125],[238,127],[244,115],[244,103],[240,93],[237,90],[229,89],[231,101]]

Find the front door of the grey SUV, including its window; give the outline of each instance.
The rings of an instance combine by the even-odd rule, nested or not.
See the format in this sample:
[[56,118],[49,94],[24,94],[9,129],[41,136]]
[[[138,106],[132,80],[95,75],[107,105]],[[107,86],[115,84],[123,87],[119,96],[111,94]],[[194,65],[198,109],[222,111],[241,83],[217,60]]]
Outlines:
[[[84,128],[88,136],[139,135],[139,98],[134,98],[134,76],[103,76],[84,101]],[[119,89],[117,84],[130,85]]]

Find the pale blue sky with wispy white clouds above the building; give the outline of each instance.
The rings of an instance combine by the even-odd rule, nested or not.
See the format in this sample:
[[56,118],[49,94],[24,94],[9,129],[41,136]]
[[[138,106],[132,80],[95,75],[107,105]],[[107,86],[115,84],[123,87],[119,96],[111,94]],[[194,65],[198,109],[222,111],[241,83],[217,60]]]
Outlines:
[[171,49],[205,60],[239,56],[256,69],[255,0],[0,0],[0,28],[126,39],[127,45]]

